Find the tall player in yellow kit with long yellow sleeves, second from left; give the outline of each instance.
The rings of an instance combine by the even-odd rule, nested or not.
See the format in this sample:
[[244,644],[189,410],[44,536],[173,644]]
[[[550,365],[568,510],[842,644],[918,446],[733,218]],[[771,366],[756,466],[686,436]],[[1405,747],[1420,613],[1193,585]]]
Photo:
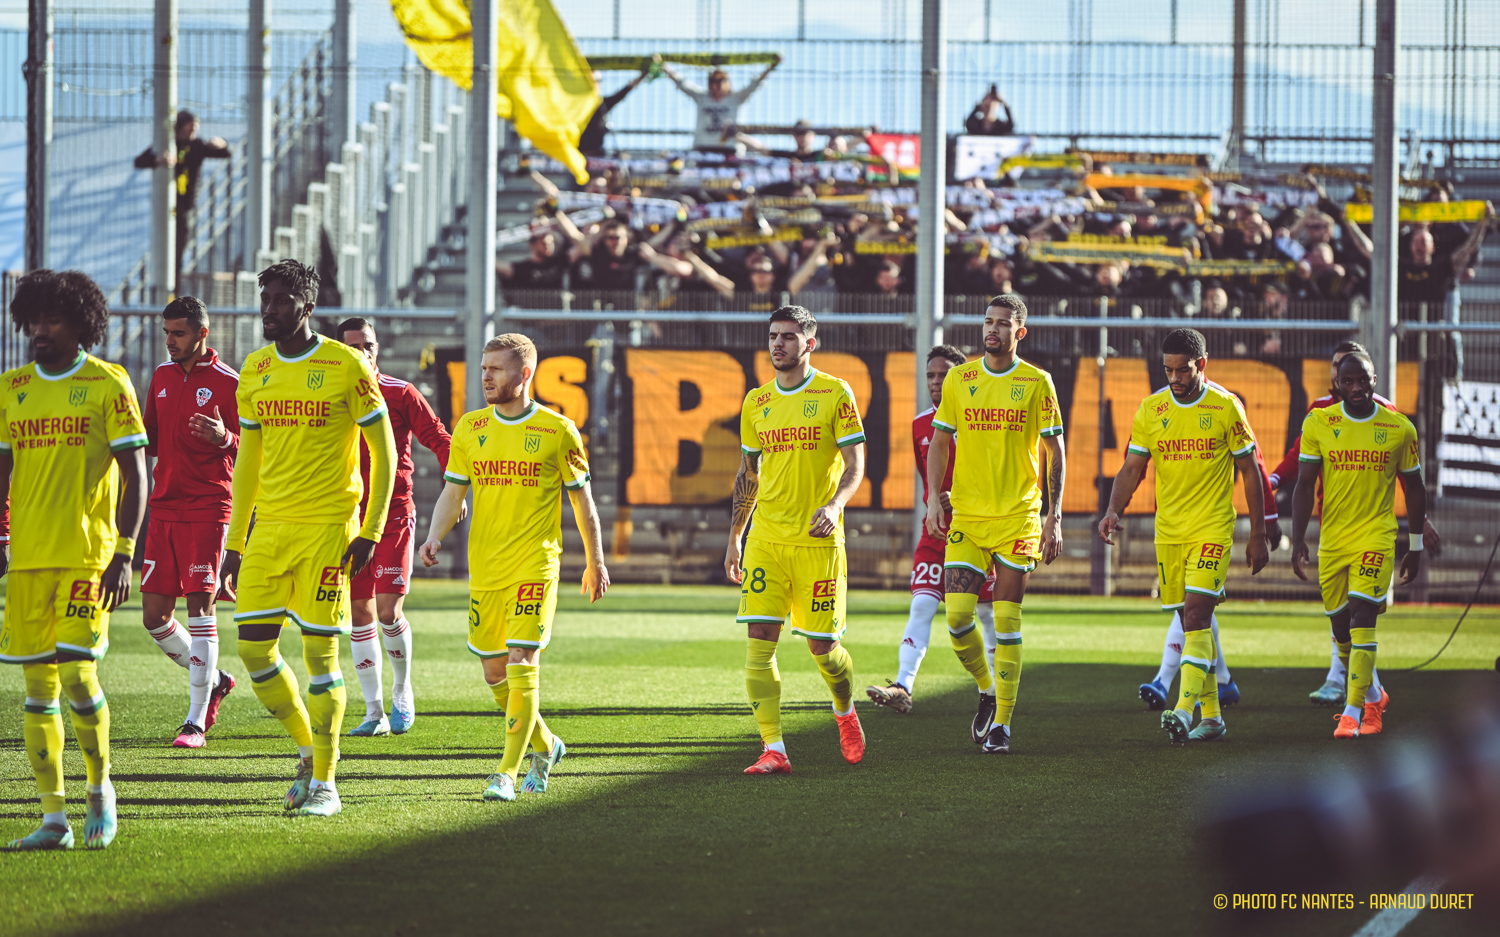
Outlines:
[[[280,261],[260,283],[272,345],[240,369],[240,454],[220,582],[238,586],[234,624],[255,696],[297,742],[286,810],[332,817],[340,810],[334,766],[345,705],[339,636],[350,630],[350,577],[386,526],[396,444],[369,361],[312,331],[318,273]],[[370,453],[363,526],[362,435]],[[306,706],[278,652],[288,621],[302,628]]]

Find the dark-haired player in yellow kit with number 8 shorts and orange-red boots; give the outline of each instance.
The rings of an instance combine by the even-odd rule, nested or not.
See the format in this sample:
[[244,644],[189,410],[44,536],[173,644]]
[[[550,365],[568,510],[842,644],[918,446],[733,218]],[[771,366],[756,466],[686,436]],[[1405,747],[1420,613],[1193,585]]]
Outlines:
[[[816,370],[818,319],[801,306],[771,313],[776,378],[746,394],[740,411],[740,472],[732,496],[724,573],[738,583],[750,633],[746,690],[764,750],[748,775],[790,774],[782,738],[782,673],[776,643],[790,622],[807,639],[834,697],[838,748],[850,765],[864,757],[854,711],[854,661],[838,643],[848,562],[843,508],[864,477],[864,424],[849,385]],[[750,525],[750,514],[754,523]],[[740,541],[750,525],[741,555]]]

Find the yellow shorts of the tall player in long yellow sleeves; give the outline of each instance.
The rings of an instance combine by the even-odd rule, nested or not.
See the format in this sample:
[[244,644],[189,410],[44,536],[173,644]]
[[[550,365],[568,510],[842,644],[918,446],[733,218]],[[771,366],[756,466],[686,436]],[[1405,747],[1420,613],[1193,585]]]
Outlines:
[[284,625],[314,634],[350,631],[344,550],[358,523],[256,523],[236,583],[237,625]]

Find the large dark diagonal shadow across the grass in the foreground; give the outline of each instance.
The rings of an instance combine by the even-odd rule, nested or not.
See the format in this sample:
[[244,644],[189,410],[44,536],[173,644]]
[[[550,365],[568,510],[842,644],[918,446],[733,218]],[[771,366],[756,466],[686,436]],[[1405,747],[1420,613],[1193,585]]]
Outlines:
[[[363,793],[364,781],[387,775],[348,771],[346,817],[332,825],[288,820],[296,832],[286,835],[304,843],[304,852],[282,844],[267,859],[242,861],[266,871],[243,873],[232,886],[198,889],[172,907],[122,909],[72,933],[369,937],[524,928],[550,937],[999,928],[1160,937],[1222,930],[1230,922],[1215,916],[1212,895],[1226,883],[1198,853],[1194,829],[1215,796],[1228,796],[1228,780],[1268,765],[1296,769],[1330,751],[1353,762],[1449,712],[1449,675],[1392,675],[1386,736],[1358,753],[1335,748],[1328,712],[1306,703],[1318,676],[1239,670],[1245,702],[1228,712],[1228,741],[1172,748],[1160,718],[1134,699],[1138,667],[1040,664],[1023,679],[1014,756],[982,756],[969,741],[970,688],[918,696],[909,715],[861,708],[868,754],[856,766],[838,757],[831,715],[794,711],[794,774],[771,778],[741,774],[758,751],[742,709],[735,717],[718,717],[718,708],[710,717],[700,709],[630,711],[634,718],[704,720],[705,741],[686,745],[590,742],[590,735],[620,739],[634,721],[596,715],[592,724],[558,726],[578,736],[579,754],[596,757],[562,762],[544,796],[483,804],[480,772],[468,798],[428,798],[441,804],[444,813],[430,820],[441,829],[400,841],[362,831],[357,844],[340,849],[338,825],[348,816],[402,804],[388,792]],[[808,708],[826,712],[826,703]],[[674,720],[668,730],[692,726],[680,729]],[[742,735],[726,738],[736,730]],[[660,738],[663,730],[644,732]],[[350,768],[392,759],[345,751]],[[600,759],[627,751],[678,757],[660,771],[602,771]],[[422,801],[410,798],[410,810]],[[1280,933],[1347,934],[1365,918],[1329,912],[1282,921]]]

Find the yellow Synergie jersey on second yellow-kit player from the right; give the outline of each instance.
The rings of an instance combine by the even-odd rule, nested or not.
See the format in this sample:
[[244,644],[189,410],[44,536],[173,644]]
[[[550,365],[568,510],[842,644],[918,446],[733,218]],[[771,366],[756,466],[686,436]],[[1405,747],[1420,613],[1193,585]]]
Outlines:
[[1156,543],[1234,526],[1234,459],[1256,450],[1239,397],[1212,381],[1191,403],[1162,387],[1140,403],[1130,451],[1156,466]]

